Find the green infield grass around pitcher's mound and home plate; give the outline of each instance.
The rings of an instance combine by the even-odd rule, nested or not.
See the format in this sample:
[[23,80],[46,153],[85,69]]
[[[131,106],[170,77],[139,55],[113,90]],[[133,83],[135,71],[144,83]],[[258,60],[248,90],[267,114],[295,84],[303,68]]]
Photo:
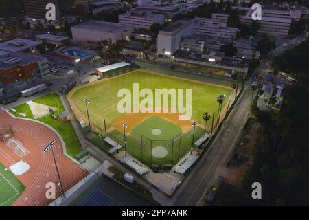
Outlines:
[[[152,135],[152,129],[160,129],[161,135]],[[192,146],[193,128],[174,139],[181,133],[181,128],[176,124],[172,124],[168,121],[163,120],[157,116],[152,116],[137,124],[131,129],[130,134],[126,136],[127,140],[127,151],[130,155],[137,158],[140,162],[143,162],[147,166],[152,164],[176,164]],[[205,130],[196,126],[194,133],[194,142],[198,140],[201,135],[205,133]],[[141,135],[143,135],[143,144],[141,144]],[[108,137],[122,144],[124,146],[124,133],[114,129],[108,133]],[[172,140],[174,139],[174,142]],[[152,140],[152,141],[150,141]],[[168,151],[168,155],[163,158],[157,158],[151,155],[151,147],[163,146]],[[194,146],[195,147],[195,146]]]

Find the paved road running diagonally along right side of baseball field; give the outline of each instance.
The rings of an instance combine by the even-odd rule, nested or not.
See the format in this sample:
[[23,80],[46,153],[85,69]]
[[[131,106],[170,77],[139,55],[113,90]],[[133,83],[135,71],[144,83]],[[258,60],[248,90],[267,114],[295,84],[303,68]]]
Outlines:
[[[273,56],[279,55],[285,50],[290,49],[297,41],[306,38],[306,34],[301,34],[286,45],[277,47],[266,58],[270,59]],[[176,202],[174,206],[196,206],[201,197],[211,186],[211,183],[217,177],[216,171],[222,166],[227,158],[227,155],[232,151],[233,144],[236,142],[238,135],[242,133],[243,125],[247,121],[247,115],[251,105],[251,82],[254,76],[268,69],[267,61],[262,60],[260,66],[244,87],[244,91],[240,95],[235,107],[214,139],[214,142],[209,147],[209,151],[198,160],[196,166],[192,168],[187,178],[183,181],[174,197]]]

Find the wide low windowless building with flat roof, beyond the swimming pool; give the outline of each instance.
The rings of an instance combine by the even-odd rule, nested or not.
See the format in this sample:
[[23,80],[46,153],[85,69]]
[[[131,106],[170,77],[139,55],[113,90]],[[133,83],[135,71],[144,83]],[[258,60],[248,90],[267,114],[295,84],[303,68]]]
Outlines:
[[106,21],[87,21],[71,28],[73,40],[80,43],[98,43],[109,40],[116,43],[118,40],[129,39],[133,26],[124,23]]

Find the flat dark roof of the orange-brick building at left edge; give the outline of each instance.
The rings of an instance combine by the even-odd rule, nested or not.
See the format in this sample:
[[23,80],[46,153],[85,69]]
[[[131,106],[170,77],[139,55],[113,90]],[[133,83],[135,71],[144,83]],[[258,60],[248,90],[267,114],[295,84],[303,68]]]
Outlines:
[[41,56],[25,54],[21,52],[12,52],[9,50],[0,50],[0,69],[10,69],[16,66],[25,66],[30,63],[43,61]]

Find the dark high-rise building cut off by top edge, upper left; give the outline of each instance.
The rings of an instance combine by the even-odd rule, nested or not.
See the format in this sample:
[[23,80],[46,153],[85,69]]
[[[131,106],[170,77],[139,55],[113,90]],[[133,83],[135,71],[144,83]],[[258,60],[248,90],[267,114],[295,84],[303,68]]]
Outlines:
[[46,19],[46,5],[48,3],[53,3],[56,6],[56,19],[60,19],[58,0],[23,0],[27,17]]

